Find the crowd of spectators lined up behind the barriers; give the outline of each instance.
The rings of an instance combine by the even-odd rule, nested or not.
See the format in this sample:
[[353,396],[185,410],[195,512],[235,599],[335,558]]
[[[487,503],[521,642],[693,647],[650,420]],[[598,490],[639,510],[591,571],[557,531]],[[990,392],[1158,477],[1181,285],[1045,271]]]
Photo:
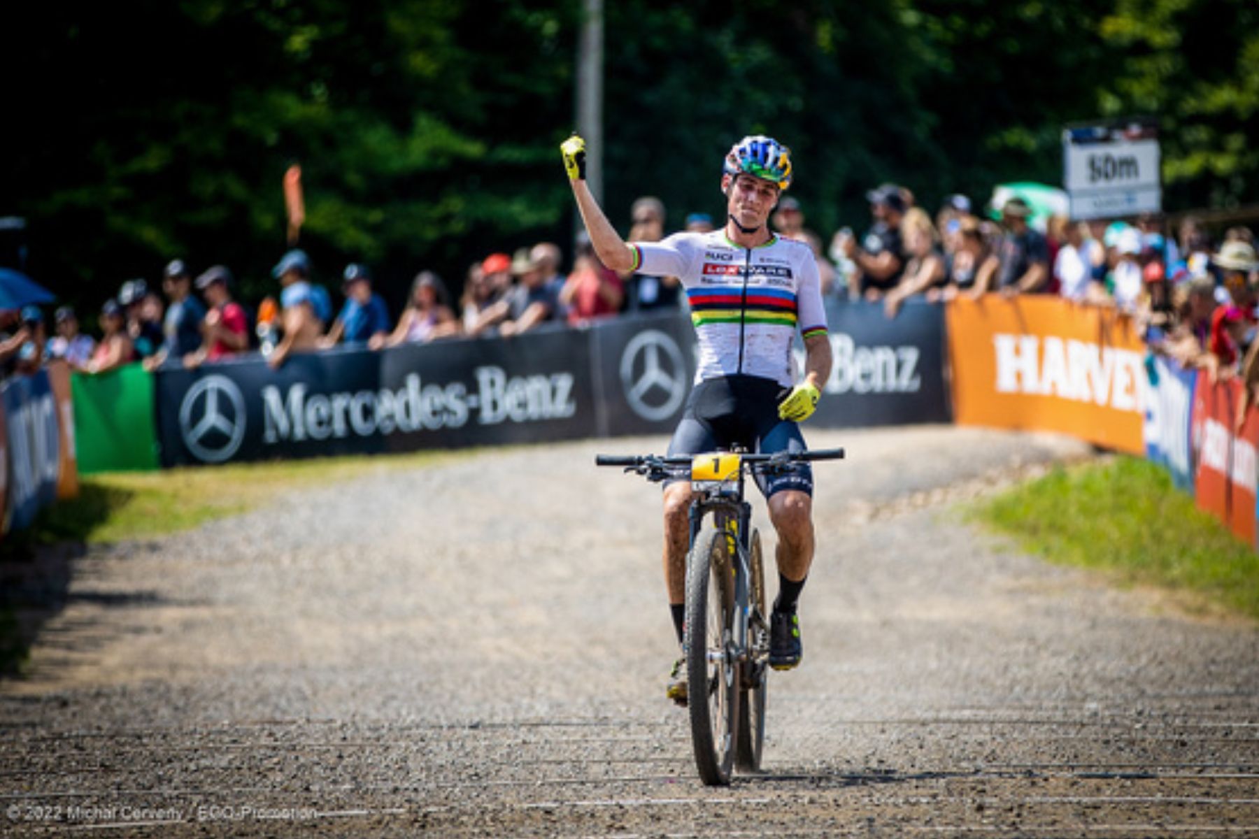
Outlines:
[[[1034,220],[1032,208],[1017,196],[996,208],[992,218],[976,213],[964,195],[948,196],[933,218],[910,190],[895,184],[866,197],[871,218],[864,234],[842,228],[825,252],[798,200],[784,196],[772,215],[778,235],[813,249],[825,297],[880,303],[895,318],[913,298],[1056,294],[1132,314],[1153,351],[1185,366],[1212,375],[1245,370],[1259,380],[1259,259],[1246,228],[1231,228],[1212,242],[1194,219],[1185,219],[1175,235],[1165,235],[1156,218],[1132,224]],[[708,231],[714,224],[696,213],[686,216],[682,229]],[[627,240],[658,242],[671,231],[658,199],[633,203]],[[457,336],[510,338],[539,327],[685,307],[676,277],[612,272],[588,240],[578,242],[568,273],[563,264],[564,254],[551,243],[514,255],[491,253],[468,267],[457,302],[441,277],[424,270],[393,319],[373,288],[370,269],[359,263],[341,272],[344,303],[334,312],[307,255],[290,250],[272,270],[277,294],[251,312],[233,299],[234,281],[225,267],[194,277],[175,259],[162,272],[161,294],[145,279],[131,279],[104,302],[96,341],[81,331],[68,307],[55,311],[50,340],[39,308],[4,313],[9,323],[0,328],[11,332],[0,333],[0,364],[25,371],[59,357],[89,374],[133,361],[149,370],[196,367],[258,347],[268,364],[279,366],[292,352],[337,345],[379,350]]]

